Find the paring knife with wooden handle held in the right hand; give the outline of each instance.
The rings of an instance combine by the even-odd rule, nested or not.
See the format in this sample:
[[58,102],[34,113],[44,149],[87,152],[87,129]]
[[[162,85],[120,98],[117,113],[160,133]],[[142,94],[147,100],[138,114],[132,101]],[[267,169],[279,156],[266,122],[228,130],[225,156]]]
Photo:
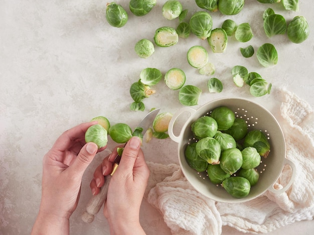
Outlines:
[[[135,128],[135,131],[142,129],[142,134],[146,132],[146,130],[149,128],[149,126],[152,124],[154,118],[159,113],[160,108],[156,108],[152,111],[150,111],[138,124],[138,126]],[[134,132],[135,132],[134,131]],[[120,163],[121,156],[117,155],[114,158],[114,163],[112,165],[112,170],[109,175],[105,176],[105,182],[104,185],[100,188],[100,192],[97,195],[93,195],[87,206],[86,210],[82,214],[82,220],[84,222],[91,223],[94,220],[95,215],[99,212],[100,208],[104,204],[106,198],[107,198],[107,192],[108,192],[108,185],[109,181],[113,175],[113,173],[116,171],[119,163]]]

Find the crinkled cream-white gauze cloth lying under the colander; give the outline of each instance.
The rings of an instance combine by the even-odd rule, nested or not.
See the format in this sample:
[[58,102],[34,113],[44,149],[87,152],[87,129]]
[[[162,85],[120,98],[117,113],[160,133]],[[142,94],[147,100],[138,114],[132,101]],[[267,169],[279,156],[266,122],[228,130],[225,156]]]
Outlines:
[[[221,203],[194,190],[179,165],[148,162],[151,174],[145,197],[161,211],[173,234],[221,234],[222,225],[243,232],[266,233],[313,218],[314,114],[295,94],[285,89],[280,92],[286,157],[296,166],[291,187],[280,194],[266,191],[244,203]],[[285,185],[290,174],[289,167],[284,167],[275,186]]]

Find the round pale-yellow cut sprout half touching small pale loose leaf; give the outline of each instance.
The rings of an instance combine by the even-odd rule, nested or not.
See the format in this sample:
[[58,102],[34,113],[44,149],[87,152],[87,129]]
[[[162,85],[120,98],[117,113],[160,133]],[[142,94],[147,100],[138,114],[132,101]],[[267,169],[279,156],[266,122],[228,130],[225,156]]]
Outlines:
[[188,62],[196,68],[204,67],[208,62],[208,52],[201,45],[194,45],[188,50]]

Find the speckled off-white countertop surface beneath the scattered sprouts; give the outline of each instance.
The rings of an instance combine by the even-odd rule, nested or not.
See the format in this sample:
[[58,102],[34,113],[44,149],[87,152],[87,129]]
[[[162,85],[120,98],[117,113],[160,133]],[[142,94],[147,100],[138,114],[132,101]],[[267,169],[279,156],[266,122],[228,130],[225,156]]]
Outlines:
[[[299,11],[284,11],[281,5],[263,5],[247,0],[244,9],[234,16],[211,13],[213,27],[232,18],[237,23],[249,22],[254,37],[246,43],[229,38],[227,50],[214,54],[207,41],[192,35],[175,46],[155,46],[154,54],[139,58],[134,44],[141,38],[152,40],[160,26],[174,26],[177,20],[167,20],[161,14],[165,0],[158,1],[146,16],[137,17],[128,9],[128,1],[120,0],[129,13],[122,28],[114,28],[105,20],[107,1],[24,0],[0,2],[0,234],[29,234],[41,197],[42,158],[55,139],[66,129],[104,115],[112,122],[125,122],[131,127],[152,107],[175,112],[182,108],[178,91],[170,90],[164,82],[155,86],[156,93],[144,100],[145,112],[129,109],[131,83],[139,78],[145,67],[159,68],[163,74],[180,67],[187,74],[187,83],[199,86],[199,104],[218,97],[245,97],[256,101],[275,116],[279,115],[280,97],[276,91],[284,86],[314,107],[314,6],[300,1]],[[200,10],[194,0],[182,1],[189,9],[188,17]],[[267,38],[262,29],[262,13],[272,7],[287,21],[303,15],[310,25],[310,36],[301,44],[291,43],[286,35]],[[241,56],[239,48],[252,44],[255,49],[265,42],[273,43],[279,54],[278,64],[262,67],[254,55]],[[221,93],[209,93],[207,80],[186,60],[192,45],[203,45],[209,60],[216,66],[215,77],[222,80]],[[273,85],[269,95],[253,97],[248,87],[236,87],[231,68],[244,65],[260,73]],[[108,149],[114,143],[109,141]],[[177,143],[152,140],[143,146],[147,160],[178,163]],[[106,153],[99,154],[84,174],[81,200],[71,218],[71,234],[109,234],[105,218],[98,214],[92,224],[85,224],[80,214],[91,194],[89,181],[95,166]],[[147,234],[170,234],[162,215],[145,200],[141,223]],[[273,234],[310,234],[313,221],[291,224]],[[293,233],[291,233],[293,231]],[[223,234],[241,234],[223,227]]]

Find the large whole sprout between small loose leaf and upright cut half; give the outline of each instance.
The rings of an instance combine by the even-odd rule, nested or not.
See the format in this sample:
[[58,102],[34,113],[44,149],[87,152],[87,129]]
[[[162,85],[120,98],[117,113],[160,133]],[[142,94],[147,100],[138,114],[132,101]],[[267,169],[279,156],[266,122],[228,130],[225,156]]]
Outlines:
[[190,19],[190,26],[191,31],[204,40],[211,34],[213,27],[212,16],[206,11],[197,11]]

